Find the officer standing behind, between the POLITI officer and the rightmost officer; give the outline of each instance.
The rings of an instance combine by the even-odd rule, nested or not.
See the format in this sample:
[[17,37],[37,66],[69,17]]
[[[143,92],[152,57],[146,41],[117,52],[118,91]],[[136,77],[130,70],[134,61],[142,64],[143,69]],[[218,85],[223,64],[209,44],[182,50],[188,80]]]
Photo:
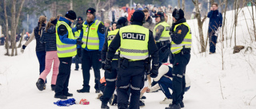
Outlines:
[[158,11],[153,18],[157,24],[154,26],[154,39],[157,42],[159,49],[159,62],[166,63],[170,54],[170,25],[166,23],[165,13]]

